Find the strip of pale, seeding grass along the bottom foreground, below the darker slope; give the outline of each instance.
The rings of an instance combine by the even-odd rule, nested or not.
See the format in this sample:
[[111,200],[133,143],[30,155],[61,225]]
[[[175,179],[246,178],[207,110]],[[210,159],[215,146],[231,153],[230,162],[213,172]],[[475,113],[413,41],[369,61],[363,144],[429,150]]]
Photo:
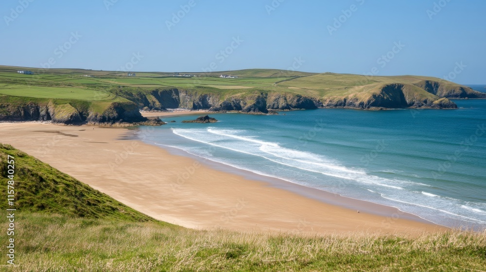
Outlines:
[[[16,214],[16,267],[4,271],[484,271],[486,234],[418,238],[198,231]],[[0,219],[6,225],[6,218]],[[5,243],[5,233],[0,240]],[[5,246],[3,246],[5,248]],[[6,257],[0,261],[5,264]]]

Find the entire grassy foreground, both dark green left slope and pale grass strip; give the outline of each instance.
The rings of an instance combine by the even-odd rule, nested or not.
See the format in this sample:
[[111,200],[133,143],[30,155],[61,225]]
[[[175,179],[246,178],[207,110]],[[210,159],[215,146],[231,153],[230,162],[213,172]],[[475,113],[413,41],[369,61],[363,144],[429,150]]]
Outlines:
[[[155,221],[9,145],[16,266],[0,271],[483,271],[486,233],[317,236],[201,231]],[[5,194],[4,194],[5,197]],[[4,201],[1,208],[6,208]],[[0,224],[7,225],[5,216]],[[0,234],[3,248],[6,232]],[[6,264],[5,254],[0,256]]]

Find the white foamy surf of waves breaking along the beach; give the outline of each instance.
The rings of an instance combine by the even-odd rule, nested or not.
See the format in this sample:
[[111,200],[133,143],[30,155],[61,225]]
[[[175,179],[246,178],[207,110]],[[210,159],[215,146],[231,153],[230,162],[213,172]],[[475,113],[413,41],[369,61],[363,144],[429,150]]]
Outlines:
[[[209,128],[209,129],[174,129],[173,128],[172,131],[177,136],[184,137],[191,141],[196,141],[210,146],[214,146],[217,147],[218,149],[221,148],[236,153],[243,153],[251,156],[257,156],[282,166],[309,171],[318,174],[323,174],[330,177],[351,180],[352,182],[357,182],[361,184],[366,184],[368,185],[366,186],[368,188],[365,189],[367,189],[371,193],[381,194],[382,199],[386,199],[386,201],[384,203],[382,202],[382,204],[389,205],[390,203],[387,203],[388,201],[391,201],[392,203],[409,204],[409,205],[421,207],[423,211],[425,211],[425,209],[432,209],[445,214],[449,214],[451,215],[451,218],[453,217],[456,220],[470,221],[475,223],[478,222],[486,223],[486,221],[484,221],[485,219],[483,219],[482,217],[480,217],[479,219],[472,218],[472,217],[476,217],[474,216],[474,214],[479,214],[479,213],[484,214],[486,213],[485,211],[481,209],[476,209],[474,207],[463,205],[462,208],[467,209],[470,212],[469,213],[466,211],[461,212],[460,211],[461,203],[459,202],[459,200],[450,199],[447,197],[441,197],[420,190],[417,191],[414,190],[413,192],[405,190],[403,193],[399,193],[397,191],[397,190],[404,190],[404,187],[407,186],[419,185],[419,186],[430,187],[430,185],[427,184],[421,184],[409,180],[397,180],[397,179],[389,179],[389,178],[375,176],[364,172],[364,170],[355,170],[352,168],[344,167],[342,165],[339,165],[338,162],[332,159],[328,159],[325,156],[320,154],[314,154],[311,152],[304,152],[300,150],[284,148],[280,146],[278,142],[260,140],[255,136],[236,135],[236,134],[246,133],[246,131],[220,130],[215,128]],[[305,179],[301,179],[300,181],[298,179],[295,180],[294,178],[285,174],[283,176],[275,176],[267,173],[266,170],[261,170],[260,168],[251,169],[252,167],[247,167],[244,164],[242,165],[240,162],[228,161],[225,158],[212,157],[210,149],[207,148],[206,149],[203,148],[201,150],[194,149],[193,152],[189,152],[187,149],[183,149],[183,150],[193,155],[201,156],[203,158],[218,163],[222,163],[237,169],[251,171],[259,175],[275,177],[282,180],[286,180],[288,182],[302,184],[302,185],[304,185],[304,183],[308,184],[309,182],[309,180],[306,181]],[[207,152],[202,152],[205,150]],[[390,172],[393,171],[390,170]],[[395,172],[400,172],[400,171],[395,171]],[[314,175],[314,178],[316,177],[318,180],[319,179],[318,176]],[[309,184],[306,186],[309,186]],[[318,183],[315,183],[312,187],[315,186],[319,188]],[[386,197],[385,194],[383,194],[383,192],[386,192],[385,193],[387,195]],[[472,206],[476,206],[476,204]],[[429,216],[435,218],[436,220],[438,219],[436,215],[434,215],[434,212],[426,212],[425,214],[429,214]],[[440,221],[440,219],[438,220]]]

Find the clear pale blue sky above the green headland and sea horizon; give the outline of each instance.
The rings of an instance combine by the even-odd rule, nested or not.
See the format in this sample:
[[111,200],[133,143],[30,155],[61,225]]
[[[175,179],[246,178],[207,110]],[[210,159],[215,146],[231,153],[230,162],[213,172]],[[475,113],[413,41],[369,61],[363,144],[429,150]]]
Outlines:
[[484,0],[1,0],[0,65],[486,84]]

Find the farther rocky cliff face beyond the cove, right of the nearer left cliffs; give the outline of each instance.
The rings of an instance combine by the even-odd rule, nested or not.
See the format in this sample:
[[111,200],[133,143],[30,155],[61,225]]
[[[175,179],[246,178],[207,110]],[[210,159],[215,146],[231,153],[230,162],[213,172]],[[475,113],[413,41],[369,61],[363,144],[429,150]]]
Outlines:
[[[438,90],[435,93],[432,91],[434,88]],[[480,96],[474,92],[465,91],[469,97]],[[379,86],[375,92],[364,92],[363,94],[357,92],[347,97],[325,98],[321,102],[317,98],[295,93],[255,91],[222,97],[219,93],[198,93],[197,91],[174,88],[145,93],[145,99],[139,99],[138,103],[139,107],[145,110],[186,108],[191,110],[238,111],[250,114],[266,114],[269,110],[316,109],[319,107],[357,109],[456,108],[454,102],[443,97],[446,93],[451,96],[450,94],[453,91],[444,86],[386,84]]]

